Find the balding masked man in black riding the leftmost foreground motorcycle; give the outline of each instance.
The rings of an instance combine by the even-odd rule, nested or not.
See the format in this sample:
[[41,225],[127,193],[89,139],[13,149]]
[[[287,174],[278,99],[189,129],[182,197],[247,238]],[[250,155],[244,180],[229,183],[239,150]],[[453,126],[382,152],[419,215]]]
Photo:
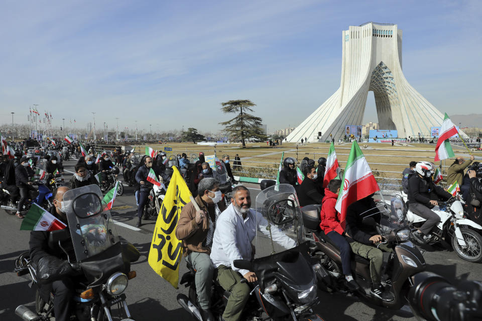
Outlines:
[[[69,188],[62,186],[55,189],[52,193],[54,198],[51,214],[67,224],[67,217],[62,209],[64,193]],[[69,271],[69,263],[66,261],[67,256],[60,248],[52,249],[49,247],[48,231],[32,231],[30,232],[30,258],[40,267],[41,264],[56,264],[55,268],[62,271]],[[75,261],[75,254],[69,253],[70,259]],[[60,261],[61,259],[62,261]],[[72,269],[72,273],[74,273]],[[52,273],[55,274],[55,273]],[[72,281],[68,277],[62,277],[51,283],[40,285],[40,296],[48,302],[50,293],[54,294],[54,313],[55,319],[58,321],[70,320],[70,314],[75,306],[73,296],[75,294]]]

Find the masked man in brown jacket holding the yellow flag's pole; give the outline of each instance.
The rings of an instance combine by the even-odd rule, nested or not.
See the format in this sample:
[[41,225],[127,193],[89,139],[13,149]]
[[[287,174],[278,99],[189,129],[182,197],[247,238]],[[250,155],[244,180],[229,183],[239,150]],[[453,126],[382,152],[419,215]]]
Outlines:
[[195,283],[201,315],[204,320],[214,321],[209,310],[214,271],[209,254],[216,218],[226,206],[222,202],[219,181],[216,179],[201,180],[197,190],[198,196],[194,200],[200,211],[196,210],[192,202],[182,208],[176,227],[176,237],[182,240],[186,261],[196,270]]

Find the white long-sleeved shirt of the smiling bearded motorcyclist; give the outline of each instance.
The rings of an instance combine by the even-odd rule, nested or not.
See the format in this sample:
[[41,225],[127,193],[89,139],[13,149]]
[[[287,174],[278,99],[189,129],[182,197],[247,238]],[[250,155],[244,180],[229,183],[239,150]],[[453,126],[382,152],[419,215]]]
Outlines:
[[[266,230],[268,222],[258,212],[250,209],[246,219],[238,214],[232,204],[222,213],[216,222],[214,237],[211,247],[211,262],[214,267],[219,265],[228,266],[241,275],[248,273],[248,270],[238,269],[233,266],[233,261],[238,259],[251,260],[253,248],[251,242],[256,236],[256,230],[270,235]],[[273,240],[286,249],[296,246],[296,242],[286,236],[278,229],[272,229]]]

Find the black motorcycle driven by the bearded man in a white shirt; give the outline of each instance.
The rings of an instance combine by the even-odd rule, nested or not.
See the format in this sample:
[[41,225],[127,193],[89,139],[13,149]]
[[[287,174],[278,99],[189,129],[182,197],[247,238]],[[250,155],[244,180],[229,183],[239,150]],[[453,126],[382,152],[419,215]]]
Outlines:
[[[249,283],[250,297],[243,310],[243,320],[322,320],[312,311],[317,298],[317,277],[320,267],[309,256],[309,243],[304,242],[303,218],[294,188],[276,185],[262,191],[256,198],[259,228],[256,231],[253,260],[234,260],[237,268],[256,273],[258,281]],[[189,297],[178,294],[179,304],[195,319],[200,314],[195,270],[189,272],[181,284],[189,287]],[[246,281],[246,279],[243,279]],[[213,281],[211,312],[219,319],[224,311],[229,292]]]

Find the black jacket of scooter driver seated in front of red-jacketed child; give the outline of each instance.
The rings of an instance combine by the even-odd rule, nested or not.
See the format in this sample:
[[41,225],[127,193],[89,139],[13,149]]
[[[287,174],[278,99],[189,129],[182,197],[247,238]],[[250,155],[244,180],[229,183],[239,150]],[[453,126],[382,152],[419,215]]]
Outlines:
[[364,225],[365,217],[373,217],[376,222],[380,222],[381,214],[372,198],[365,198],[354,202],[346,209],[345,231],[350,236],[348,242],[356,241],[367,245],[373,245],[370,238],[377,235],[377,230],[372,226]]

